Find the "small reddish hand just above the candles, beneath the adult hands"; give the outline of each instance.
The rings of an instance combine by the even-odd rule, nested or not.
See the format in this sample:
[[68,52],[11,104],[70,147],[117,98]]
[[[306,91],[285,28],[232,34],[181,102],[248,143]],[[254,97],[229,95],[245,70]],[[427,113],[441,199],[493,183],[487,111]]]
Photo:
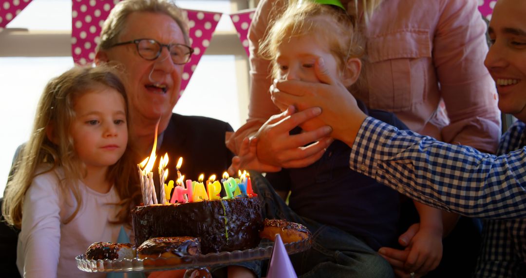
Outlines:
[[256,155],[258,139],[248,137],[241,142],[239,155],[232,157],[232,164],[228,167],[228,174],[234,176],[238,170],[255,170],[258,172],[278,172],[281,167],[264,164]]

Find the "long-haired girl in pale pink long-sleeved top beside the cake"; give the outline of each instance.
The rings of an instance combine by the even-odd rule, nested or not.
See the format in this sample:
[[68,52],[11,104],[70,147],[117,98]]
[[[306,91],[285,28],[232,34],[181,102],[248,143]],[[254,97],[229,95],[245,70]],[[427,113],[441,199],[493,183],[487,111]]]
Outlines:
[[97,276],[79,271],[75,256],[116,242],[130,223],[140,190],[130,183],[126,102],[105,66],[75,67],[47,84],[3,203],[6,221],[21,229],[24,277]]

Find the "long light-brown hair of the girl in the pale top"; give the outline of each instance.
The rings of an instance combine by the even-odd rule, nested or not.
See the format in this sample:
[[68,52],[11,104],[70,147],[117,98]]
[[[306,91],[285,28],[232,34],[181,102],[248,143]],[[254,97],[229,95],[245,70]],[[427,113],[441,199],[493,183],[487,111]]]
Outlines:
[[[46,85],[38,103],[31,137],[19,154],[6,186],[2,214],[8,224],[21,227],[24,197],[33,178],[53,171],[58,166],[65,173],[65,178],[59,185],[61,192],[70,190],[77,202],[74,213],[67,217],[64,224],[73,220],[82,204],[78,180],[85,175],[83,163],[75,153],[73,136],[70,134],[70,125],[75,117],[73,103],[80,95],[102,87],[113,88],[127,103],[124,85],[117,77],[116,70],[108,66],[74,67]],[[48,134],[55,142],[48,138]],[[48,167],[37,173],[39,165],[43,164]],[[133,166],[127,149],[119,161],[109,167],[107,173],[108,181],[114,182],[121,200],[116,205],[122,206],[115,215],[115,223],[129,223],[131,207],[140,202],[138,183],[130,180],[130,177],[135,176]]]

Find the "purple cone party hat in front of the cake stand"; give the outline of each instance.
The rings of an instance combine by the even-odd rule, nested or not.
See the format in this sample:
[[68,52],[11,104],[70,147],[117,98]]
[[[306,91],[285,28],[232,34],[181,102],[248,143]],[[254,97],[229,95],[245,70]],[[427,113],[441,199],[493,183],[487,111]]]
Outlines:
[[289,255],[281,236],[276,234],[274,247],[272,247],[272,256],[267,271],[267,278],[297,278],[294,267],[290,262]]

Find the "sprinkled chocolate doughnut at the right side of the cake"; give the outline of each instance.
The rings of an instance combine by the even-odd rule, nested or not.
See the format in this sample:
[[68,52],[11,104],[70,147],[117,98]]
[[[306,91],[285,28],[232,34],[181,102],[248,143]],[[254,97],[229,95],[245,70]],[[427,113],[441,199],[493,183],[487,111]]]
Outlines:
[[274,241],[276,234],[281,236],[283,243],[310,239],[310,231],[307,227],[298,223],[284,219],[265,219],[263,225],[263,231],[259,232],[259,236],[262,239]]

